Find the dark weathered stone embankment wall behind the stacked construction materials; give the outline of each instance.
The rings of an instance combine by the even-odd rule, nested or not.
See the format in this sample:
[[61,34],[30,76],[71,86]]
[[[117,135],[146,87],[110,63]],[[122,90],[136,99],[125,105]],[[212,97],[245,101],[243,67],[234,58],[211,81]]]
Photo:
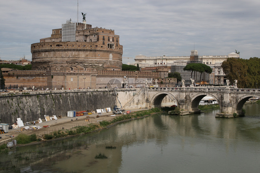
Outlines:
[[67,111],[86,111],[116,104],[113,91],[56,91],[49,93],[24,92],[1,95],[0,123],[13,124],[17,118],[24,123],[44,120],[44,115],[67,116]]

